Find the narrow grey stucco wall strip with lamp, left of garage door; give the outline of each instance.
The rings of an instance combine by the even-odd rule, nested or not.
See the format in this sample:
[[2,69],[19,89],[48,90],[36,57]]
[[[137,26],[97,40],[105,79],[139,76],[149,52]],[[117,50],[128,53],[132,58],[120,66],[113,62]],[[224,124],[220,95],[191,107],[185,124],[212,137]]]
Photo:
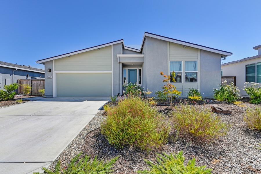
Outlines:
[[[51,72],[47,72],[48,68],[51,69]],[[52,68],[52,60],[44,63],[44,69],[45,69],[45,77],[46,77],[44,80],[45,96],[52,97],[52,80],[53,79],[47,79],[47,76],[53,77],[54,69]]]

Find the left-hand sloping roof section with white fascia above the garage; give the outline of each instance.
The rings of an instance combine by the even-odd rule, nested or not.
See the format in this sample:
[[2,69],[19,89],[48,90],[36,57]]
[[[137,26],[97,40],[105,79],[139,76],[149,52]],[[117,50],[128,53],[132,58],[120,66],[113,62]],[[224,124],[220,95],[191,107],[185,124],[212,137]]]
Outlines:
[[110,45],[114,45],[114,44],[118,44],[118,43],[122,43],[122,42],[123,42],[123,39],[120,39],[120,40],[109,42],[109,43],[106,43],[106,44],[101,44],[101,45],[97,45],[97,46],[93,46],[93,47],[89,47],[89,48],[84,48],[82,50],[77,50],[77,51],[68,52],[68,53],[65,53],[65,54],[62,54],[62,55],[37,60],[36,63],[43,63],[43,62],[46,62],[46,61],[55,60],[55,59],[59,59],[59,58],[62,58],[62,57],[67,57],[67,56],[75,55],[75,54],[78,54],[78,53],[81,53],[81,52],[95,50],[95,49],[98,49],[98,48],[102,48],[102,47],[106,47],[106,46],[110,46]]

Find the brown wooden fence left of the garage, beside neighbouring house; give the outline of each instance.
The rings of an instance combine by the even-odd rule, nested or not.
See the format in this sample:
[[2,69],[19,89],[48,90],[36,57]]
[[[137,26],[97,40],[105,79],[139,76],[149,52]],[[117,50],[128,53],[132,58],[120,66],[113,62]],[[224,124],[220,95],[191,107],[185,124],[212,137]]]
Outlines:
[[18,94],[23,93],[23,85],[32,87],[30,95],[40,95],[39,89],[44,89],[44,79],[18,79]]

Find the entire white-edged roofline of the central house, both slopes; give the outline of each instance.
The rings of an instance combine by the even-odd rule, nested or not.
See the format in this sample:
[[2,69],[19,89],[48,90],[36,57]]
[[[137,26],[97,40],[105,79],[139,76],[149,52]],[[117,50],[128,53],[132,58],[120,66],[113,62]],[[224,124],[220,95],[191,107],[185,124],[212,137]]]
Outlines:
[[118,43],[122,43],[124,49],[132,50],[132,51],[140,53],[140,52],[142,52],[142,48],[143,48],[146,37],[153,37],[153,38],[156,38],[156,39],[161,39],[161,40],[164,40],[164,41],[169,41],[169,42],[181,44],[181,45],[184,45],[184,46],[189,46],[189,47],[198,48],[198,49],[202,49],[202,50],[206,50],[206,51],[210,51],[210,52],[215,52],[215,53],[221,54],[224,57],[231,56],[233,54],[232,52],[218,50],[218,49],[215,49],[215,48],[210,48],[210,47],[206,47],[206,46],[202,46],[202,45],[198,45],[198,44],[193,44],[193,43],[190,43],[190,42],[181,41],[181,40],[173,39],[173,38],[170,38],[170,37],[165,37],[165,36],[156,35],[156,34],[149,33],[149,32],[144,32],[144,36],[143,36],[143,39],[142,39],[142,44],[141,44],[140,49],[124,46],[124,40],[120,39],[120,40],[109,42],[109,43],[106,43],[106,44],[101,44],[101,45],[85,48],[85,49],[82,49],[82,50],[77,50],[77,51],[65,53],[65,54],[62,54],[62,55],[37,60],[36,63],[44,63],[46,61],[55,60],[55,59],[59,59],[59,58],[62,58],[62,57],[67,57],[67,56],[70,56],[70,55],[75,55],[75,54],[78,54],[78,53],[82,53],[82,52],[86,52],[86,51],[90,51],[90,50],[95,50],[95,49],[98,49],[98,48],[102,48],[102,47],[106,47],[106,46],[110,46],[110,45],[114,45],[114,44],[118,44]]

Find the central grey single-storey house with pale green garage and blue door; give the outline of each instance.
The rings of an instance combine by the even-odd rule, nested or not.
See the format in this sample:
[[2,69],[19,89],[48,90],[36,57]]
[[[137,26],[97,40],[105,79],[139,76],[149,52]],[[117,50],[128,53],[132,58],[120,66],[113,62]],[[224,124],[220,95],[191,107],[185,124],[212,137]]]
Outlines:
[[220,84],[221,58],[231,52],[145,32],[140,49],[117,40],[38,60],[45,65],[47,97],[108,97],[121,95],[123,84],[137,83],[162,90],[162,76],[176,72],[177,90],[189,88],[213,96]]

